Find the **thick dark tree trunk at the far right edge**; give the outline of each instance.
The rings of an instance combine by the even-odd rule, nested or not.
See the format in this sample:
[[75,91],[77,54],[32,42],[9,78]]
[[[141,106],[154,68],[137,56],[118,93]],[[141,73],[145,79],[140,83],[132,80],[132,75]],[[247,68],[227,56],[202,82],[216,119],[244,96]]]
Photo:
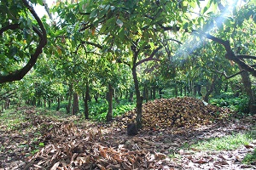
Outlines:
[[[240,70],[242,70],[240,68]],[[247,96],[249,97],[248,109],[251,114],[256,114],[256,100],[253,94],[252,82],[247,71],[241,73],[241,82],[244,85]]]

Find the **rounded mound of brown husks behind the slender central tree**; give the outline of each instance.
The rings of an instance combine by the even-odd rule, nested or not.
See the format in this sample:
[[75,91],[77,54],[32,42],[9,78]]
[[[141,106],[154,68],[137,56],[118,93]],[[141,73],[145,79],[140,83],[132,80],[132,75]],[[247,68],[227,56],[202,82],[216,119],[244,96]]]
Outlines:
[[[167,127],[196,127],[211,124],[230,114],[229,109],[207,104],[201,99],[191,97],[155,99],[143,104],[143,130]],[[136,110],[128,111],[117,117],[118,127],[134,122]]]

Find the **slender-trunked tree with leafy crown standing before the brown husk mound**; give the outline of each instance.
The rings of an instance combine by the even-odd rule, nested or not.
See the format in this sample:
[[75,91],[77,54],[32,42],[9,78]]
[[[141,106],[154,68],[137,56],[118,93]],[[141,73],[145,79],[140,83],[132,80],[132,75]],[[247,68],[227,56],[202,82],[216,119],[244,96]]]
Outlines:
[[[160,61],[155,57],[162,48],[158,37],[163,31],[177,31],[177,23],[183,23],[181,15],[188,5],[169,1],[155,3],[135,0],[88,2],[86,8],[83,4],[84,2],[79,3],[79,14],[86,21],[79,22],[79,31],[85,35],[101,37],[102,50],[112,53],[113,59],[118,63],[131,68],[137,96],[137,127],[141,128],[143,100],[137,68],[149,60]],[[171,22],[174,24],[168,26]]]

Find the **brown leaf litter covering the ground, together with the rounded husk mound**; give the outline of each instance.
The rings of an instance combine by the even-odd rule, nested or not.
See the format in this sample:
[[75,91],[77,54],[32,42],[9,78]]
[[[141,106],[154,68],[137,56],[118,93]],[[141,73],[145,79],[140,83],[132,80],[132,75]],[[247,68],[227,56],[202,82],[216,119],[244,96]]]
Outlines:
[[[201,139],[246,132],[256,116],[230,119],[231,111],[205,105],[200,99],[155,99],[143,104],[143,129],[126,134],[135,110],[111,123],[79,122],[17,108],[26,116],[19,127],[1,126],[0,169],[254,169],[243,157],[256,145],[236,150],[182,149]],[[79,122],[79,123],[74,123]],[[170,157],[170,155],[174,157]]]

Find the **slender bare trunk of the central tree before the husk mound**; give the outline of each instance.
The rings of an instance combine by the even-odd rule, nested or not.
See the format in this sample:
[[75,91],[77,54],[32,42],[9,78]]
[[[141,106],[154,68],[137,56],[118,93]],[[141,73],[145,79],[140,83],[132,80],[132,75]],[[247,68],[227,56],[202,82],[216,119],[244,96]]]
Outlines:
[[142,117],[143,117],[143,97],[140,94],[139,90],[139,82],[137,79],[137,71],[136,67],[132,67],[132,77],[135,86],[135,93],[136,93],[136,122],[137,122],[137,129],[141,129],[143,127]]

